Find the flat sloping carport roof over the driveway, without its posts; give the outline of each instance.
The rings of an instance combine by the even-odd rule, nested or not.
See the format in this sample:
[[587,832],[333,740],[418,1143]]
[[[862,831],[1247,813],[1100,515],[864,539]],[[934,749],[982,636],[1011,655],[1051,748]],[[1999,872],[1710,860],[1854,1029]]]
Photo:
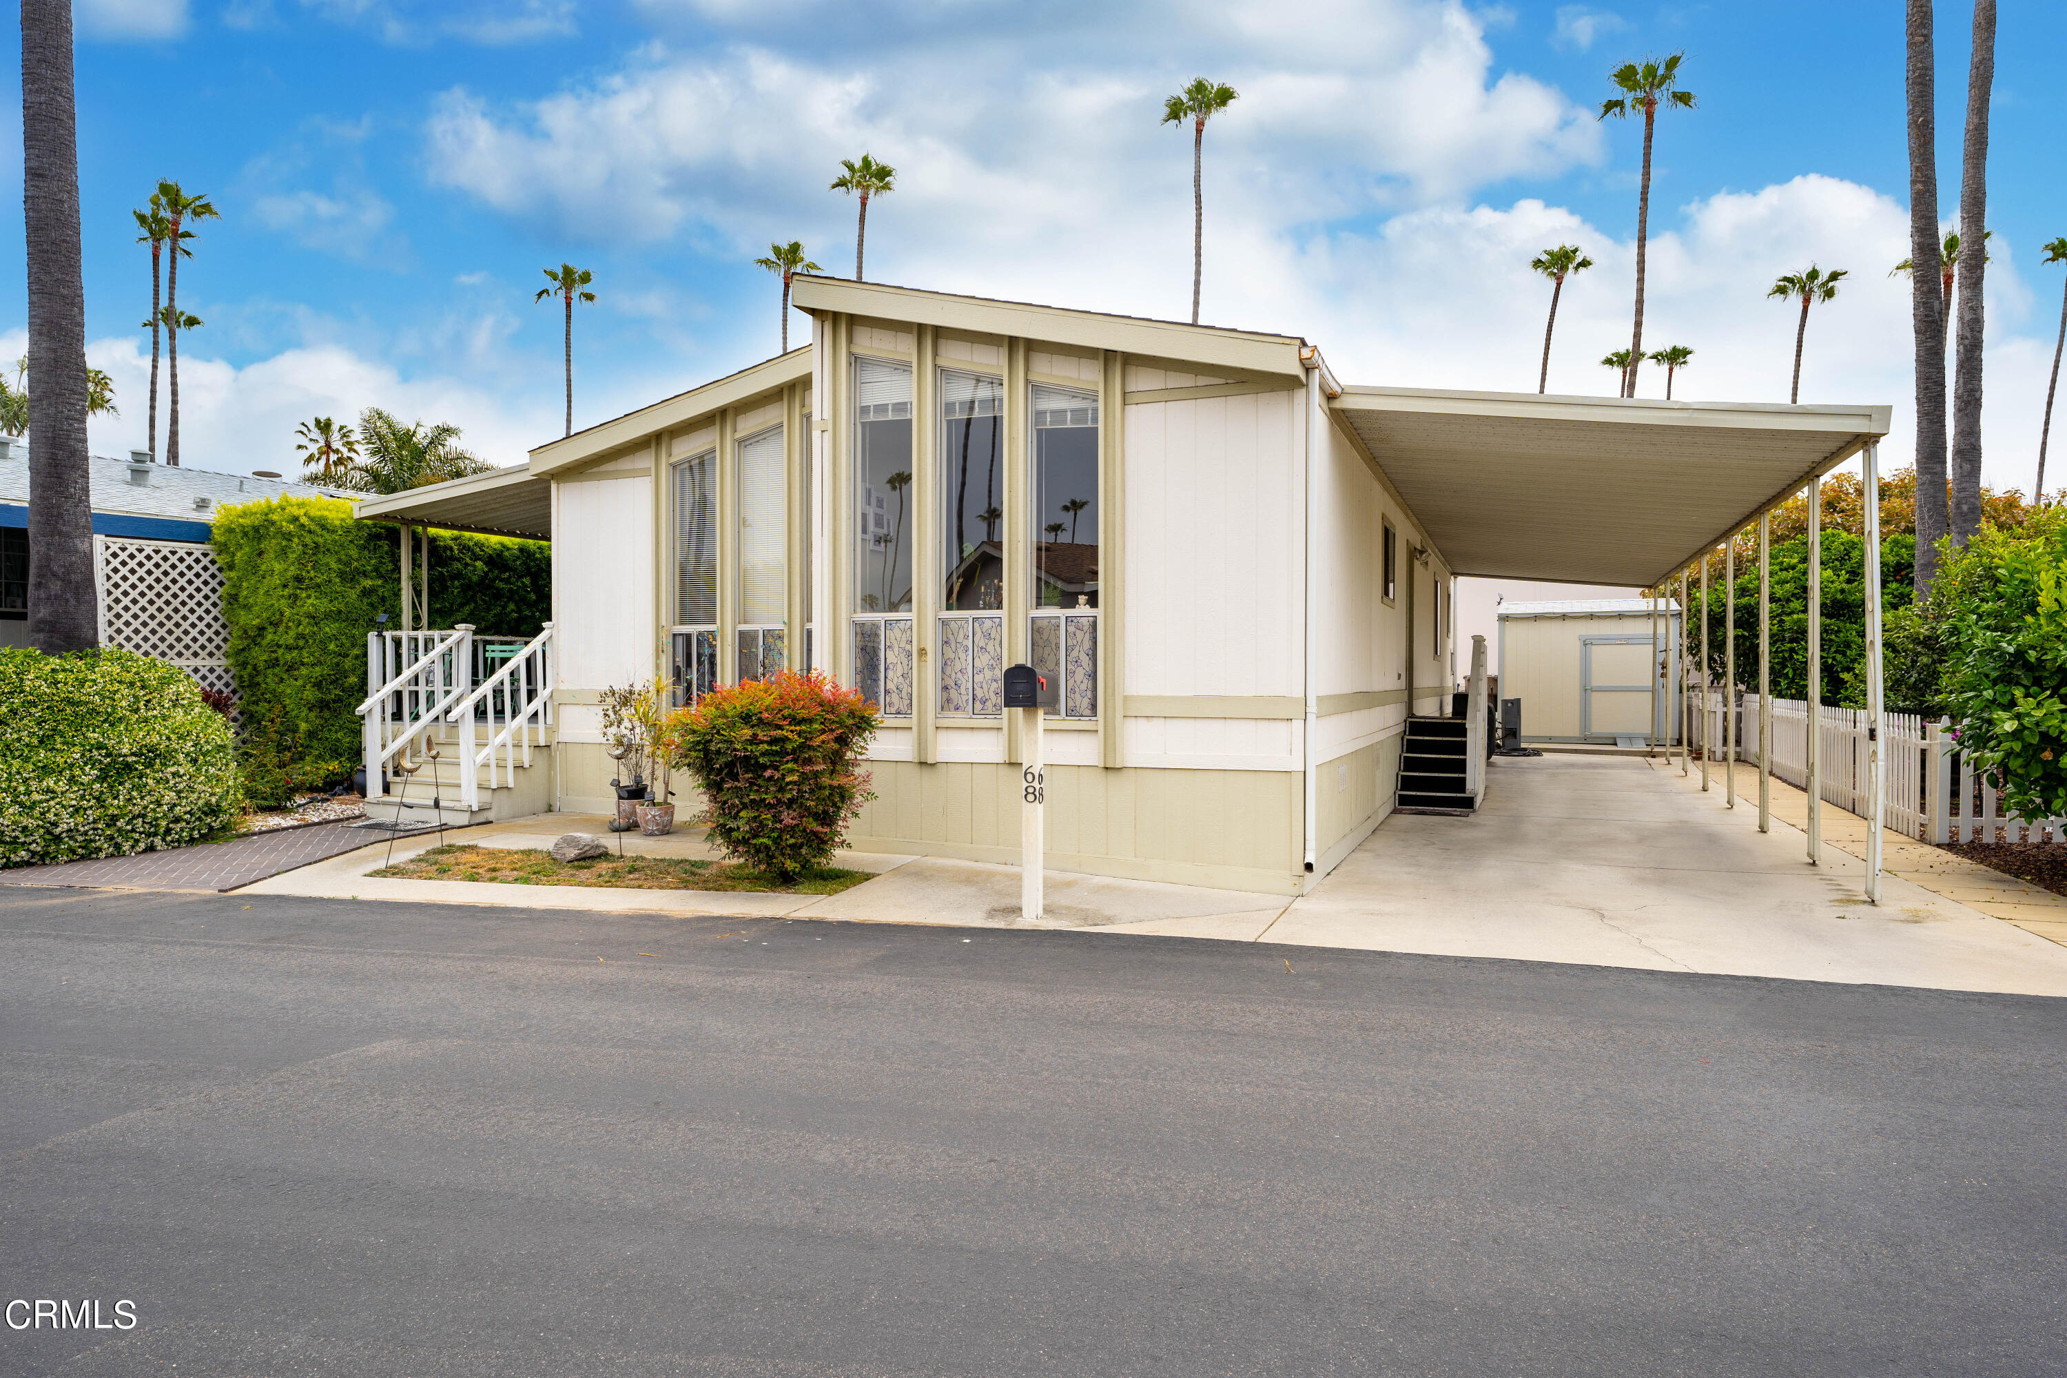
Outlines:
[[1887,434],[1889,407],[1344,386],[1457,574],[1652,587]]

